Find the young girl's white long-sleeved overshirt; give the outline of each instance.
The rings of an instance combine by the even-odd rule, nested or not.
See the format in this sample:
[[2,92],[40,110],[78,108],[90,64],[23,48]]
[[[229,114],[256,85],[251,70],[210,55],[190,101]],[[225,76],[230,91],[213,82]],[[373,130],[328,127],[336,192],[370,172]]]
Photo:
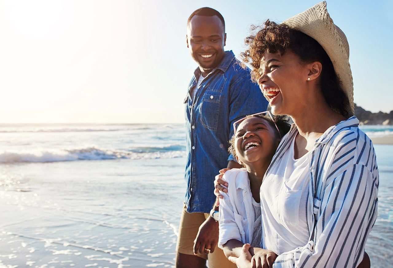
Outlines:
[[220,200],[218,246],[230,239],[251,244],[255,215],[247,169],[231,169],[222,179],[228,182],[228,193],[220,191],[224,199]]

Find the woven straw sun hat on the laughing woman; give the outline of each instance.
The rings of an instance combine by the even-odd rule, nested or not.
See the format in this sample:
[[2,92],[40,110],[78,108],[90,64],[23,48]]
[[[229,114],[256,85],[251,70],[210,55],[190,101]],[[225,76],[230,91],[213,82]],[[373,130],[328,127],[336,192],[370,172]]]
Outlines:
[[315,39],[329,55],[336,74],[342,81],[342,86],[349,100],[348,116],[354,115],[353,81],[351,67],[349,66],[349,45],[343,31],[334,25],[327,13],[326,1],[320,2],[283,24],[301,31]]

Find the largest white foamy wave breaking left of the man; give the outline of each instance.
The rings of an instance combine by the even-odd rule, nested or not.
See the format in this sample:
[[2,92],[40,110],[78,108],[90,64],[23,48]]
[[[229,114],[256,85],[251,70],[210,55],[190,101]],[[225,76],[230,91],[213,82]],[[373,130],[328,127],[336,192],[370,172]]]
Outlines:
[[[165,147],[163,147],[165,148]],[[0,163],[15,162],[60,162],[76,160],[110,160],[110,159],[155,159],[184,157],[185,151],[134,152],[98,148],[95,145],[71,149],[33,149],[23,151],[0,151]]]

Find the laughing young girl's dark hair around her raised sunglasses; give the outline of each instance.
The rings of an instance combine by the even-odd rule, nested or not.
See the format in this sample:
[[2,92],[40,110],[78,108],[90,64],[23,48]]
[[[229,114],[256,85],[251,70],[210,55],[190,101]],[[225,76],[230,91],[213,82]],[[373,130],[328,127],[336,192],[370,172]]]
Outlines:
[[[275,134],[275,137],[277,138],[277,140],[280,140],[281,137],[283,137],[286,133],[288,133],[288,131],[291,128],[291,125],[288,123],[288,121],[289,121],[288,116],[274,116],[274,115],[272,115],[274,122],[272,121],[270,116],[268,116],[266,114],[258,114],[256,116],[249,115],[246,117],[247,118],[261,117],[261,118],[265,119],[266,121],[268,121],[270,126],[272,126],[272,128],[274,129],[274,134]],[[274,123],[277,125],[279,132],[277,131],[277,128],[275,128]],[[236,133],[233,134],[232,138],[229,140],[229,148],[228,148],[228,151],[230,152],[230,154],[233,155],[234,158],[236,158],[235,136],[236,136]]]

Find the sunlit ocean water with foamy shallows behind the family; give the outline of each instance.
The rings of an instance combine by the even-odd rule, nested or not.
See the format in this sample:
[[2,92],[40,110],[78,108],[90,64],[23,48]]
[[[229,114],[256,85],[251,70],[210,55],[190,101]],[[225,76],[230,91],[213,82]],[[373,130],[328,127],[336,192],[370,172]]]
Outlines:
[[[393,267],[393,145],[375,151],[366,251]],[[184,167],[184,124],[0,125],[0,268],[174,267]]]

